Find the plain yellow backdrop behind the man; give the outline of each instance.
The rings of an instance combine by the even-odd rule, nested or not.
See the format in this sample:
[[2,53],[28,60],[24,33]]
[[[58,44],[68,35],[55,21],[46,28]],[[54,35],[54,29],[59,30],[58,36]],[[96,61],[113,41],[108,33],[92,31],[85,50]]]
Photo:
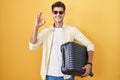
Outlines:
[[[29,51],[36,14],[52,25],[56,0],[0,0],[0,80],[41,80],[42,47]],[[76,26],[94,44],[94,77],[76,80],[120,80],[120,0],[61,0],[65,23]]]

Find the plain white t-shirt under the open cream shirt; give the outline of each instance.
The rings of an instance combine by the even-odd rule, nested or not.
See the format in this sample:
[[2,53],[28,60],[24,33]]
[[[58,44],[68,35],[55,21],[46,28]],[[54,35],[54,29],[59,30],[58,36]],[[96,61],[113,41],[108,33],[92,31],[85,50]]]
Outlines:
[[48,67],[48,75],[63,76],[61,72],[62,54],[60,51],[62,28],[55,28],[52,50],[50,55],[50,63]]

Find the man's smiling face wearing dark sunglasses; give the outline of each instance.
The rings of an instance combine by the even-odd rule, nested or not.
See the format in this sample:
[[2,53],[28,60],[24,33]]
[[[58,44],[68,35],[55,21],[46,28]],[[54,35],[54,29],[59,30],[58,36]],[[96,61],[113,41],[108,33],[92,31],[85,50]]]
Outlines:
[[56,23],[63,22],[65,12],[62,7],[55,7],[52,11],[53,19]]

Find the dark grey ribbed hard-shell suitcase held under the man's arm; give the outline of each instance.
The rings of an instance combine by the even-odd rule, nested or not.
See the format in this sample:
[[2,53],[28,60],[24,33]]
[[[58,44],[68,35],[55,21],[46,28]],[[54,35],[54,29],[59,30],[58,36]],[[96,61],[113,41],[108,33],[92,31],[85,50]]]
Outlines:
[[[75,42],[67,42],[61,45],[63,74],[81,76],[85,73],[82,69],[88,61],[87,48]],[[89,74],[93,76],[92,70]]]

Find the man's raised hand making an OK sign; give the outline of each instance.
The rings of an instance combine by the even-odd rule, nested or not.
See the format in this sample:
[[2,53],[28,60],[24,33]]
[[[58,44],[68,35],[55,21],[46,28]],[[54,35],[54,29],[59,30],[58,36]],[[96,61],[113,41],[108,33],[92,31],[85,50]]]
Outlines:
[[34,28],[39,28],[45,24],[45,19],[41,18],[42,12],[37,14]]

